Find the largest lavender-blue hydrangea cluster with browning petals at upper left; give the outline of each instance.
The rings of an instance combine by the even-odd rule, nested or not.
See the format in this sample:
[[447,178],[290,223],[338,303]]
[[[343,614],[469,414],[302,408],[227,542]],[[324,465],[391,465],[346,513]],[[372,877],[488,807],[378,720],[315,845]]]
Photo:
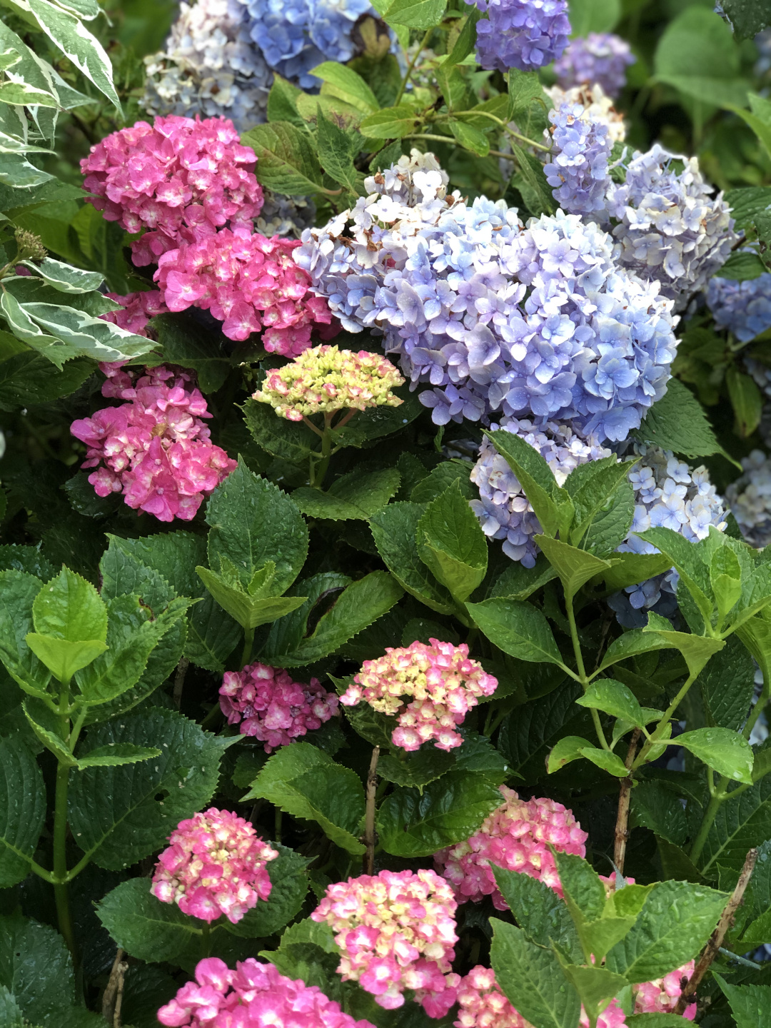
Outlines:
[[413,387],[434,387],[420,400],[437,424],[501,411],[625,439],[669,377],[671,301],[596,224],[558,211],[523,230],[503,200],[469,205],[446,182],[413,151],[295,260],[344,328],[382,335]]

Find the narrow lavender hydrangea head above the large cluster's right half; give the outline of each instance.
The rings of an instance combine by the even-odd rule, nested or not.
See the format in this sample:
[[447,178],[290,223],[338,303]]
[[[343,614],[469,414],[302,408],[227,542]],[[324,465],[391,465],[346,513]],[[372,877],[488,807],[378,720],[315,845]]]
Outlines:
[[568,214],[604,211],[613,150],[608,125],[587,116],[581,104],[570,103],[550,111],[549,120],[552,150],[544,174],[554,199]]

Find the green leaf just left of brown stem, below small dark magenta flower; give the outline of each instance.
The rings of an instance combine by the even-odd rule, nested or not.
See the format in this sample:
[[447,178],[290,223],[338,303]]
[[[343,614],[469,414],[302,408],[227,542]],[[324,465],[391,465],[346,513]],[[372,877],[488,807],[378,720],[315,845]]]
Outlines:
[[309,742],[277,750],[257,775],[246,800],[265,799],[293,817],[318,821],[324,833],[348,853],[363,853],[359,822],[364,788],[350,768]]

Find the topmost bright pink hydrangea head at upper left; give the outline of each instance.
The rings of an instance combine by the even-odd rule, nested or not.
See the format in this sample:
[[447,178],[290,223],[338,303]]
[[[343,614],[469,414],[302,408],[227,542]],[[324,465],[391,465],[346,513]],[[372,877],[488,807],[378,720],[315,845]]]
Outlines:
[[137,265],[225,225],[250,225],[262,209],[254,150],[227,118],[170,115],[111,133],[80,161],[86,197],[127,232]]

